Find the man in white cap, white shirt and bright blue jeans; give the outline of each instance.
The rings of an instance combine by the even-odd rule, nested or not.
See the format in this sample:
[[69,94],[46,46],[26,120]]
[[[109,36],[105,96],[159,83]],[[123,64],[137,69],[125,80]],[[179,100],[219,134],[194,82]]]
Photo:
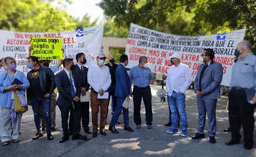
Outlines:
[[181,136],[188,136],[188,122],[185,110],[186,89],[191,84],[190,70],[188,66],[181,63],[181,54],[173,53],[171,55],[171,63],[173,65],[168,69],[166,87],[167,97],[171,110],[171,128],[167,133],[178,132],[178,115],[182,124]]

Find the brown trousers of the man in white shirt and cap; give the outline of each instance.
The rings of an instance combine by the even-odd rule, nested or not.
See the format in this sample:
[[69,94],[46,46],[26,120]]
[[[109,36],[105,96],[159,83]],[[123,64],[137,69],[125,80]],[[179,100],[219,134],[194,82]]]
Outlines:
[[93,132],[98,131],[98,113],[100,109],[100,123],[99,130],[103,131],[105,128],[106,114],[108,107],[108,99],[98,99],[98,93],[91,92],[91,118],[93,122]]

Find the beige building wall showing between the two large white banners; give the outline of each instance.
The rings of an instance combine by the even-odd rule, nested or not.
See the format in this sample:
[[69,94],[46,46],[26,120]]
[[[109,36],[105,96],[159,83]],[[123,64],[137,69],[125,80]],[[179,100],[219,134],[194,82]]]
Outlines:
[[103,37],[103,53],[107,56],[109,49],[125,50],[127,38]]

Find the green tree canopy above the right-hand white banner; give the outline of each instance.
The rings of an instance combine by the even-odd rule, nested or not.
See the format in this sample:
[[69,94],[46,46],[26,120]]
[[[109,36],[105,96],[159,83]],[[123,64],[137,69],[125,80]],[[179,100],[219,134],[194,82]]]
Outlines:
[[256,48],[254,0],[102,0],[105,16],[122,27],[130,22],[176,35],[208,35],[246,28]]

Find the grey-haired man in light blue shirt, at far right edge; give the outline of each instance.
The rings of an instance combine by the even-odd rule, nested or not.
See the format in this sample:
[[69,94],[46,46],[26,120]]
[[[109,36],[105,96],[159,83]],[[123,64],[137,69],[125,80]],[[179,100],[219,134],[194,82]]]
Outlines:
[[[244,130],[244,149],[250,150],[254,146],[256,56],[252,53],[252,45],[247,40],[238,43],[234,55],[239,60],[232,68],[231,91],[229,92],[231,140],[227,141],[226,145],[240,143],[240,128],[242,126]],[[252,97],[249,97],[249,94],[252,94]]]

